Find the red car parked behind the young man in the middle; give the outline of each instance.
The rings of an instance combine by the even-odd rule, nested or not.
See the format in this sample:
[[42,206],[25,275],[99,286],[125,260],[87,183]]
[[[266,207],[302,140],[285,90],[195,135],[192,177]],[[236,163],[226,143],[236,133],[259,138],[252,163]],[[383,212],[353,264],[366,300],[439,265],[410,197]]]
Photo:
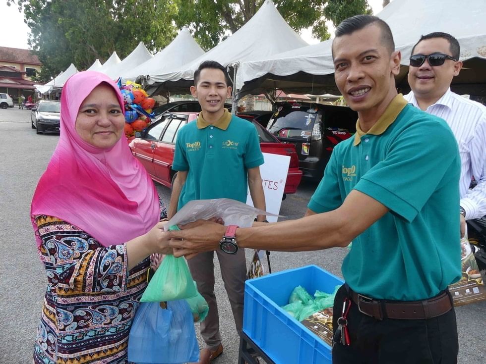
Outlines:
[[[164,114],[143,132],[136,132],[135,138],[129,141],[133,155],[140,160],[154,181],[169,188],[172,186],[177,173],[172,170],[177,132],[186,123],[196,120],[197,115],[197,112]],[[262,152],[290,156],[284,198],[286,194],[295,193],[301,182],[302,171],[299,170],[299,159],[294,145],[281,143],[256,121],[248,122],[252,122],[258,131]]]

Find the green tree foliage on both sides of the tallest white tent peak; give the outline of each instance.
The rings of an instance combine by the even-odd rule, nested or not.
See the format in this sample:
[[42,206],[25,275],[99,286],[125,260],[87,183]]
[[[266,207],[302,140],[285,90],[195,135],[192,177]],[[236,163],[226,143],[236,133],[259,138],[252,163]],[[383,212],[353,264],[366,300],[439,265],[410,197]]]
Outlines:
[[[188,26],[202,48],[209,50],[235,33],[265,0],[178,0],[175,22]],[[367,0],[274,0],[282,17],[297,32],[312,27],[315,38],[324,41],[330,34],[326,20],[334,25],[357,14],[371,14]]]

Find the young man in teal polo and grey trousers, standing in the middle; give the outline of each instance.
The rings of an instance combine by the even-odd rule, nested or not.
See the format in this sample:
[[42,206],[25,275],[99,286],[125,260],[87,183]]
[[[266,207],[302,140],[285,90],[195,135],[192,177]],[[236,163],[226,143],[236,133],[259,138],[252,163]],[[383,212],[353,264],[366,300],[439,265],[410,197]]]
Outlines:
[[[224,108],[231,95],[229,77],[221,64],[205,61],[194,73],[192,96],[202,111],[196,122],[181,128],[177,136],[172,168],[177,170],[169,218],[187,202],[201,199],[230,198],[246,202],[249,187],[256,208],[265,210],[260,176],[263,155],[254,125]],[[257,217],[265,220],[264,215]],[[243,296],[246,278],[244,250],[235,255],[217,252],[237,330],[243,326]],[[188,261],[197,288],[209,304],[209,313],[201,322],[206,348],[200,364],[211,363],[223,351],[219,332],[218,307],[214,295],[214,253],[202,253]]]

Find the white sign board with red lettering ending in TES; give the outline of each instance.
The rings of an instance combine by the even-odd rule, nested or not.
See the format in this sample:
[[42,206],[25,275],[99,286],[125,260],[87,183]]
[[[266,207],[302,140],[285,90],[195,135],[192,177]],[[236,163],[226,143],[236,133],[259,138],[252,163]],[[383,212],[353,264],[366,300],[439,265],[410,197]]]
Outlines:
[[[284,195],[285,182],[287,181],[290,156],[263,153],[263,159],[265,163],[260,165],[260,174],[263,193],[265,194],[265,210],[278,215]],[[253,206],[249,188],[246,204]],[[269,222],[277,222],[277,219],[278,216],[267,216]]]

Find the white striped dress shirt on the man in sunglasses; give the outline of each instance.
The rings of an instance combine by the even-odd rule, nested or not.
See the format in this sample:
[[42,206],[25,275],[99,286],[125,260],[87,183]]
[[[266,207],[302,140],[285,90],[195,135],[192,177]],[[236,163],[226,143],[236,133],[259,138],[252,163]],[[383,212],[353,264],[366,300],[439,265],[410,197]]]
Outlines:
[[[405,99],[419,107],[413,92]],[[456,137],[461,155],[460,204],[466,211],[466,220],[486,215],[486,106],[448,89],[425,112],[447,121]],[[470,190],[472,177],[477,185]]]

